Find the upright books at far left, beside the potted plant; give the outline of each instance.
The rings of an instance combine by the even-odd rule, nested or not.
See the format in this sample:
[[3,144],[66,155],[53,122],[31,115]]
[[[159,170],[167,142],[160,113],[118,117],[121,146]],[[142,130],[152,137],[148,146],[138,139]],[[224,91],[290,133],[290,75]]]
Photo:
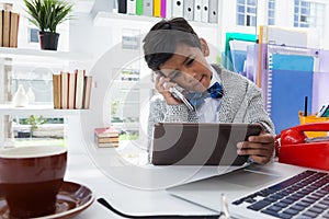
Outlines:
[[18,47],[20,14],[0,10],[0,46]]

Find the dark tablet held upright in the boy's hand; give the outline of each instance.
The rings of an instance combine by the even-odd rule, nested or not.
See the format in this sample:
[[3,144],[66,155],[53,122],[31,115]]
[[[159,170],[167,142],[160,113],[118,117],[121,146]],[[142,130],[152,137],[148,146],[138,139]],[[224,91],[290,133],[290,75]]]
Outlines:
[[158,123],[154,127],[151,163],[155,165],[242,165],[237,142],[259,135],[257,124]]

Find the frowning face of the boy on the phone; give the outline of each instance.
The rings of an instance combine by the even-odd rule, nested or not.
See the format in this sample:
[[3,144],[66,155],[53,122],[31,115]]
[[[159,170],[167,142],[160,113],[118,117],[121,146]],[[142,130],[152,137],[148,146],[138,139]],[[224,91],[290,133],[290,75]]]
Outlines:
[[173,56],[160,66],[164,77],[188,91],[203,92],[212,80],[212,71],[205,59],[208,54],[185,44],[177,46]]

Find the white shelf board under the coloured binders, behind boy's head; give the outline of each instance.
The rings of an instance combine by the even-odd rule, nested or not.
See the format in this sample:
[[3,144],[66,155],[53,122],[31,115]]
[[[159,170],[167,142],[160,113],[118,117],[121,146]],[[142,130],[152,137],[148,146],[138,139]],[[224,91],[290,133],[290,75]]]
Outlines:
[[[162,18],[146,16],[146,15],[132,15],[132,14],[122,14],[122,13],[112,13],[112,12],[99,12],[93,19],[93,24],[95,26],[112,26],[113,22],[120,21],[121,25],[134,26],[135,23],[146,23],[146,24],[156,24],[161,21]],[[216,23],[204,23],[189,21],[192,26],[202,26],[202,27],[215,27]]]

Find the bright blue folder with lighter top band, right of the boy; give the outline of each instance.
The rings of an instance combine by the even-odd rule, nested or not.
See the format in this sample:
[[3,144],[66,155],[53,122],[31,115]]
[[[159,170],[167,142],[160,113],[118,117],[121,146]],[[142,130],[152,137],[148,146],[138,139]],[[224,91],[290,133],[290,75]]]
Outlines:
[[304,100],[308,96],[308,107],[313,99],[311,56],[272,56],[271,118],[279,134],[282,129],[299,125],[298,111],[304,111]]

